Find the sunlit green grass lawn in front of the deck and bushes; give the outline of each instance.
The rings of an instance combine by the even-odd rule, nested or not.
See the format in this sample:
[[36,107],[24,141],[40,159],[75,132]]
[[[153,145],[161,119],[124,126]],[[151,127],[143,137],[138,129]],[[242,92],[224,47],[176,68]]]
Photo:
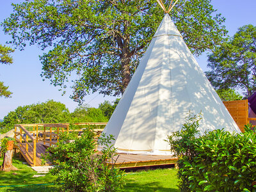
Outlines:
[[[2,162],[3,158],[0,158],[0,164]],[[13,158],[13,166],[19,170],[0,171],[0,191],[60,191],[61,186],[52,184],[55,177],[49,173],[45,177],[33,178],[37,173],[16,158]],[[126,173],[126,185],[124,189],[118,191],[179,191],[176,186],[178,181],[176,174],[175,169]]]

